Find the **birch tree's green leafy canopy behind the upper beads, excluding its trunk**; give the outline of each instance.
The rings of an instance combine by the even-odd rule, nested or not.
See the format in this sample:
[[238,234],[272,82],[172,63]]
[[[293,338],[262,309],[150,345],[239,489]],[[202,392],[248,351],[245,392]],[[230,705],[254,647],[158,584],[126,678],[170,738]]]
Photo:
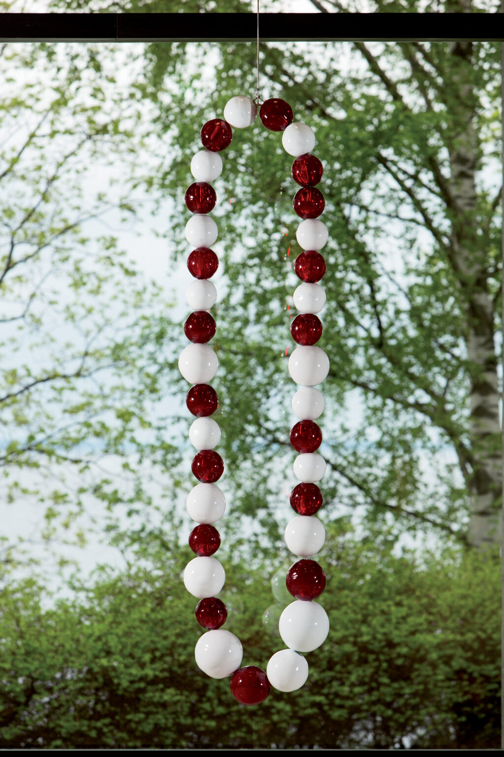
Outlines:
[[[315,5],[355,10],[332,0]],[[71,7],[91,6],[73,0]],[[416,12],[419,4],[376,8]],[[111,9],[249,12],[251,6],[127,0]],[[326,501],[365,512],[369,524],[385,525],[393,515],[397,534],[434,528],[465,540],[470,510],[483,509],[478,497],[487,484],[480,491],[478,482],[490,479],[492,507],[500,502],[499,434],[493,428],[480,435],[470,401],[473,391],[487,391],[492,407],[481,414],[496,425],[498,45],[474,45],[469,61],[443,42],[261,43],[260,65],[262,97],[281,96],[295,106],[295,119],[314,127],[315,151],[326,167],[320,185],[329,229],[320,346],[332,366],[324,383],[321,450],[328,462]],[[461,86],[468,89],[463,97]],[[135,89],[156,105],[157,132],[171,144],[151,186],[175,194],[167,233],[183,239],[183,189],[192,180],[188,167],[199,128],[219,117],[232,95],[255,92],[255,45],[145,45],[144,79]],[[452,173],[469,117],[478,197],[476,207],[462,210]],[[253,513],[268,539],[280,541],[271,513],[279,469],[287,469],[291,457],[290,419],[278,408],[289,407],[291,393],[289,302],[300,248],[290,206],[297,188],[289,176],[292,160],[278,138],[258,124],[234,130],[212,215],[227,285],[215,308],[214,340],[227,481],[234,512]],[[492,181],[484,180],[492,171]],[[465,270],[462,247],[478,261],[477,273]],[[184,250],[177,246],[175,259]],[[481,326],[478,298],[487,303],[487,353],[479,362],[468,356],[469,332]]]

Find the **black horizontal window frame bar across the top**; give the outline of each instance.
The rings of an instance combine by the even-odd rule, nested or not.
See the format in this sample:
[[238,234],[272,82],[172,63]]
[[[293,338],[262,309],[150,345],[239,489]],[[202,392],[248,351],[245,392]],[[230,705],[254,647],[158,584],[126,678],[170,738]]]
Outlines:
[[[503,22],[484,13],[264,13],[259,35],[261,42],[501,42]],[[0,15],[0,42],[255,42],[256,29],[254,13]]]

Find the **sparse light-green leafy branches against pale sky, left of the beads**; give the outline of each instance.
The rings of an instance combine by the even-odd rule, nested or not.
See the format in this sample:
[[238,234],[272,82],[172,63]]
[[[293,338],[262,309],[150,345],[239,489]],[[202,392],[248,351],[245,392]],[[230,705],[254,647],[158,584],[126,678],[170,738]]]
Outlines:
[[[82,546],[76,519],[93,498],[113,521],[118,505],[149,502],[146,460],[166,471],[179,459],[152,412],[175,364],[166,295],[104,233],[140,210],[141,113],[91,46],[2,45],[0,68],[2,499],[36,506],[46,541]],[[128,468],[116,494],[104,456]],[[11,540],[2,556],[20,558]]]

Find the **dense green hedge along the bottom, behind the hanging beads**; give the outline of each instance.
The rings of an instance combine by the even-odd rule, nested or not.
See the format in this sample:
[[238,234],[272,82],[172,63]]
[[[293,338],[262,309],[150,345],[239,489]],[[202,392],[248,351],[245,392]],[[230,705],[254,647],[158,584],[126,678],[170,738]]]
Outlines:
[[[420,564],[387,540],[358,544],[341,522],[320,553],[326,643],[301,690],[239,705],[227,679],[196,667],[203,629],[167,544],[147,568],[104,575],[42,610],[35,581],[9,587],[0,612],[0,746],[8,748],[404,748],[499,745],[499,565],[447,551]],[[283,643],[261,617],[274,563],[254,574],[224,557],[225,628],[244,665]]]

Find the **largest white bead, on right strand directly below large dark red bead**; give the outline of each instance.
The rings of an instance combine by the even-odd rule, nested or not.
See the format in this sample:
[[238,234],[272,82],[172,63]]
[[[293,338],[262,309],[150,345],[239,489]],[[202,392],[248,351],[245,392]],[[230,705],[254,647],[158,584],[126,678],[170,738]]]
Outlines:
[[329,618],[317,602],[295,600],[280,615],[278,630],[289,649],[313,652],[329,634]]

